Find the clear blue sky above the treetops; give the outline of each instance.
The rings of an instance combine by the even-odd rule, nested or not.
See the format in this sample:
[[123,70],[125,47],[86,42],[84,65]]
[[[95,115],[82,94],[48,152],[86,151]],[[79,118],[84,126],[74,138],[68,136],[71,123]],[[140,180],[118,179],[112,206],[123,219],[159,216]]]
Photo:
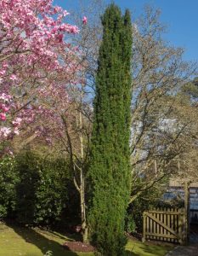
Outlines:
[[[161,21],[168,26],[165,38],[175,46],[184,47],[185,60],[198,60],[198,0],[115,0],[114,2],[122,9],[131,9],[135,15],[141,14],[145,3],[160,8]],[[78,7],[78,0],[54,0],[54,3],[68,11]]]

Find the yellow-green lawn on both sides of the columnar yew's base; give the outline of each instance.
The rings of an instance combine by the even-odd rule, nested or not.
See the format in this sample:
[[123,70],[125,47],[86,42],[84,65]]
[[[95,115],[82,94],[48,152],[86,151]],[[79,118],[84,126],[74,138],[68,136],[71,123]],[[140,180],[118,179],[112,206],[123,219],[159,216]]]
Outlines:
[[[56,232],[0,224],[0,256],[43,256],[48,251],[53,252],[53,256],[93,256],[93,253],[65,251],[60,245],[66,240],[73,238]],[[162,256],[169,249],[170,247],[148,245],[139,241],[127,243],[128,255],[134,256]]]

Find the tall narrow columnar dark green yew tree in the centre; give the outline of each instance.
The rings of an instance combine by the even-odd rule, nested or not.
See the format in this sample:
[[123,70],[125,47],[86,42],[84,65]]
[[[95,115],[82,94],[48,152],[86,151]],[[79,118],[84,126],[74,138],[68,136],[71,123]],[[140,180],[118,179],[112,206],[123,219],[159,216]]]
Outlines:
[[123,255],[124,218],[130,195],[132,25],[115,5],[102,17],[103,41],[96,75],[89,175],[91,240],[102,255]]

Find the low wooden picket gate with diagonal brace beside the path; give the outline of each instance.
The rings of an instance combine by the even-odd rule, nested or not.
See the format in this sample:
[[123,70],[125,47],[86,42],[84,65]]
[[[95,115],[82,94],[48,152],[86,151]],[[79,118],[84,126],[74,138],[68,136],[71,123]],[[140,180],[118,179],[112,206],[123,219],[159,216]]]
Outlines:
[[143,241],[186,241],[186,214],[184,209],[154,209],[144,212]]

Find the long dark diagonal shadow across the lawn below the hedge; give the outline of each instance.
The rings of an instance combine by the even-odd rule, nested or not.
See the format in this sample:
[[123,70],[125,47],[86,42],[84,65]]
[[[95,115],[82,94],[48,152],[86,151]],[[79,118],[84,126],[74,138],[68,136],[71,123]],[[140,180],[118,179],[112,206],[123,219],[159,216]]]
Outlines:
[[[65,250],[65,248],[62,247],[58,241],[54,241],[45,236],[42,236],[41,234],[37,233],[37,231],[32,230],[31,228],[25,228],[14,224],[8,224],[8,226],[12,228],[14,232],[21,236],[26,242],[38,247],[43,254],[51,251],[53,253],[53,256],[77,256],[75,252]],[[57,236],[57,234],[54,235]],[[64,236],[62,236],[61,238],[65,239]],[[72,241],[72,239],[68,240]]]

